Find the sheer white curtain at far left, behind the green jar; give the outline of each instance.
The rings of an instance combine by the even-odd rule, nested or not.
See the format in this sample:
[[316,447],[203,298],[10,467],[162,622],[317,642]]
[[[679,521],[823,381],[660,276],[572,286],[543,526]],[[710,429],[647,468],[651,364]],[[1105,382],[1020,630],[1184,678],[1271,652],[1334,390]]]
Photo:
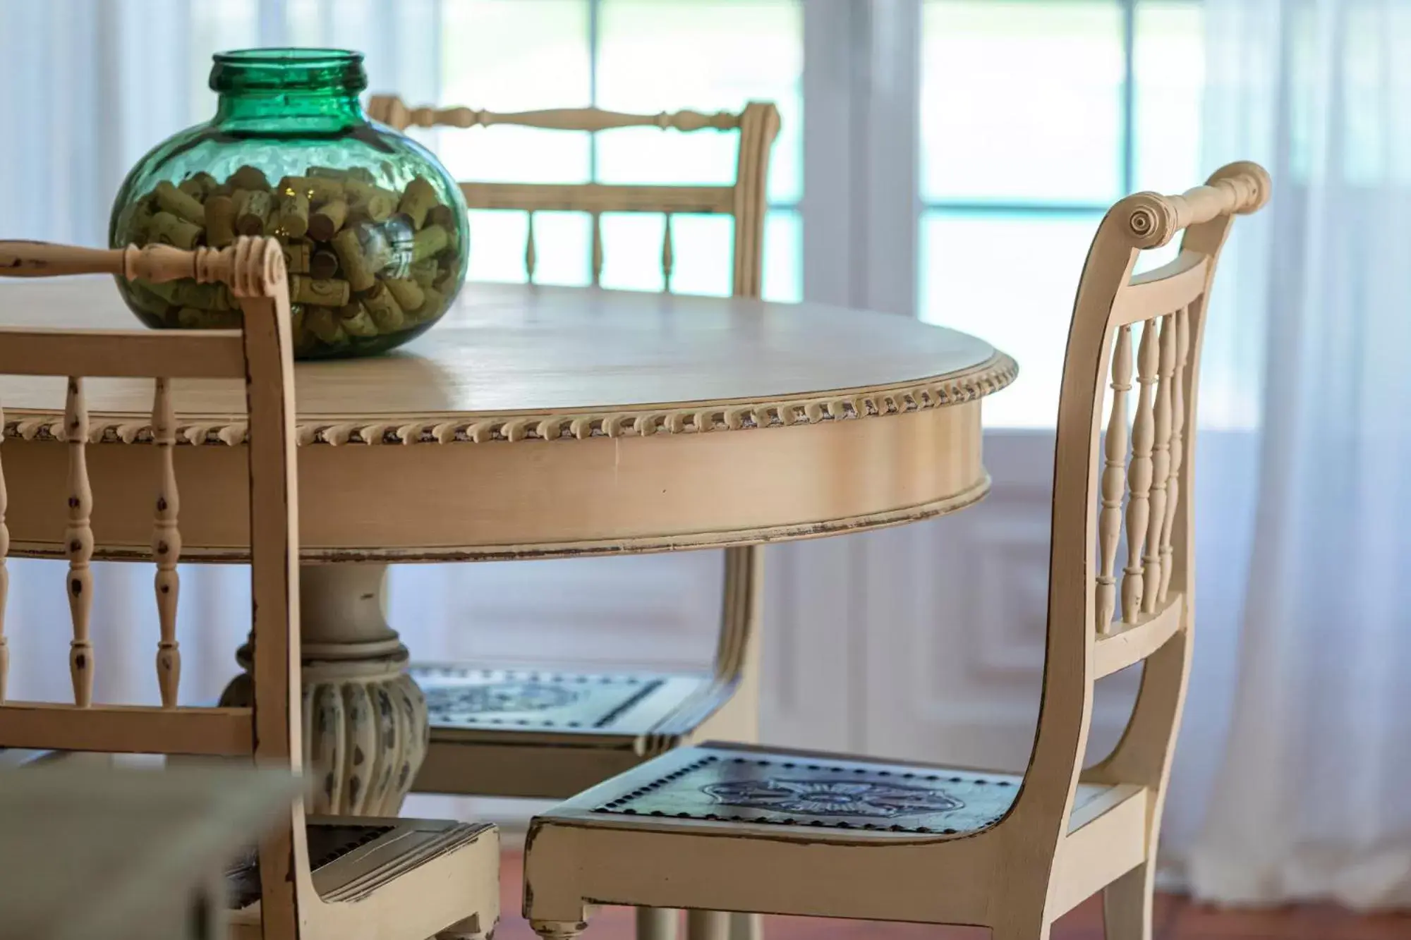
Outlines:
[[[210,117],[210,55],[250,45],[367,52],[375,89],[436,100],[435,0],[49,0],[0,3],[0,237],[107,243],[127,169],[169,134]],[[135,323],[135,320],[134,320]],[[62,404],[61,404],[62,406]],[[179,483],[179,481],[178,481]],[[11,498],[23,498],[11,490]],[[95,515],[103,512],[95,507]],[[63,562],[10,560],[8,694],[66,700],[69,613]],[[398,591],[436,569],[394,573],[394,620],[420,655],[443,632],[432,591]],[[150,565],[95,565],[95,699],[157,701],[157,604]],[[246,566],[183,565],[178,614],[182,700],[209,701],[237,670],[250,628]],[[405,608],[405,610],[404,610]],[[150,642],[148,642],[150,641]]]

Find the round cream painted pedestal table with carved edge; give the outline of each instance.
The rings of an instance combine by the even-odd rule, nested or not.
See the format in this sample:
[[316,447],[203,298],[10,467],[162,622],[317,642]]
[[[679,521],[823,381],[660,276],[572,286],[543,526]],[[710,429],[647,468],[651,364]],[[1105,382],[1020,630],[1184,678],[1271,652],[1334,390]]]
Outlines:
[[[106,278],[0,285],[0,322],[134,325]],[[989,487],[981,398],[1015,371],[975,337],[885,313],[487,285],[404,350],[301,364],[305,707],[344,709],[347,740],[360,720],[375,740],[373,720],[425,742],[384,614],[391,562],[718,548],[969,505]],[[151,382],[86,388],[95,558],[148,559]],[[182,560],[238,562],[243,390],[174,391]],[[8,507],[10,550],[62,558],[62,382],[0,377],[0,405],[6,473],[28,494]],[[241,693],[237,679],[227,696]],[[341,771],[347,740],[306,747]]]

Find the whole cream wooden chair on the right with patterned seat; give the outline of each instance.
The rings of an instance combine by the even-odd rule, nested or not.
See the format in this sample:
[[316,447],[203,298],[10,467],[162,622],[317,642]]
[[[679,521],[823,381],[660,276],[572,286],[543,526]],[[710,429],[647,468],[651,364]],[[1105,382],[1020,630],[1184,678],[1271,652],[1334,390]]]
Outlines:
[[[738,744],[674,751],[533,820],[525,916],[542,937],[581,932],[591,899],[693,909],[693,940],[724,929],[703,910],[979,924],[996,940],[1040,940],[1102,891],[1109,940],[1150,940],[1189,669],[1206,298],[1233,213],[1268,192],[1260,167],[1232,164],[1181,196],[1129,196],[1098,229],[1058,402],[1044,687],[1024,775]],[[1182,230],[1175,261],[1132,275],[1141,250]],[[1084,769],[1094,683],[1136,663],[1126,733]]]

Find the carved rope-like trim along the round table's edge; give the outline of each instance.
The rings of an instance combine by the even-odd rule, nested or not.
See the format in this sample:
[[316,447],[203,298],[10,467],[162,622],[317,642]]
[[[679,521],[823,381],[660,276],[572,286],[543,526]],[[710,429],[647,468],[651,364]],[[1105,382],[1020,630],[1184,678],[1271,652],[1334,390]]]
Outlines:
[[[502,414],[480,416],[365,418],[358,421],[305,421],[296,428],[299,445],[413,445],[490,443],[519,440],[587,440],[591,438],[646,438],[656,433],[706,433],[752,428],[816,425],[828,421],[885,418],[992,395],[1019,374],[1019,364],[1005,353],[964,373],[952,373],[895,385],[871,385],[809,395],[783,395],[768,401],[718,401],[691,405],[590,409],[564,414]],[[3,438],[63,440],[62,412],[7,409]],[[90,443],[151,443],[150,418],[90,415]],[[179,445],[246,442],[246,422],[231,418],[196,418],[176,428]]]

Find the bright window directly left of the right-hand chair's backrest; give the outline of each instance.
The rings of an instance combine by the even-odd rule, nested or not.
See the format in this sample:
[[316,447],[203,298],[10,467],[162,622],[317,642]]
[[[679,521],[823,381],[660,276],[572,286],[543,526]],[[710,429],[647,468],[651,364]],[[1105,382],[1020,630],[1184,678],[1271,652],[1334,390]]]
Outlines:
[[1199,176],[1201,31],[1197,0],[926,0],[920,315],[1022,363],[986,425],[1053,426],[1102,213]]

